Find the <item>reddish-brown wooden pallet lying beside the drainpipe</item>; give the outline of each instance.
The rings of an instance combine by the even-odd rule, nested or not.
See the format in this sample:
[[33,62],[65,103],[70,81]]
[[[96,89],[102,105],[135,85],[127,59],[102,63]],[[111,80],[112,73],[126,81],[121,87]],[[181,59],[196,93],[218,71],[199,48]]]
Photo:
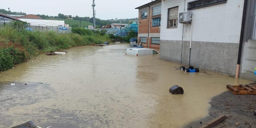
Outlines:
[[227,85],[234,95],[256,95],[256,85]]

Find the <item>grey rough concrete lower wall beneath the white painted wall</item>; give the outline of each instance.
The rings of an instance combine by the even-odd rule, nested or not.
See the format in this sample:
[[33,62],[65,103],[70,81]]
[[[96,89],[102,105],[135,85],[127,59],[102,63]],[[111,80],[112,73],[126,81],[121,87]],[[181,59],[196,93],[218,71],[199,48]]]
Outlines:
[[[182,41],[160,40],[160,58],[181,62]],[[239,44],[192,42],[190,65],[211,71],[236,74]],[[183,41],[182,63],[189,63],[189,41]]]

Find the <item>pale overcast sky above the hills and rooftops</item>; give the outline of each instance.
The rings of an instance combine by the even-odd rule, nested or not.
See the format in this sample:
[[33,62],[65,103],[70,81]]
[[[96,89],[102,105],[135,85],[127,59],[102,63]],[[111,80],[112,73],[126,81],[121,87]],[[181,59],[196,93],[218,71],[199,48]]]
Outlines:
[[[96,18],[124,19],[138,17],[138,10],[134,9],[151,0],[95,0]],[[0,9],[27,14],[45,14],[57,16],[78,15],[92,17],[91,4],[93,0],[1,0]]]

